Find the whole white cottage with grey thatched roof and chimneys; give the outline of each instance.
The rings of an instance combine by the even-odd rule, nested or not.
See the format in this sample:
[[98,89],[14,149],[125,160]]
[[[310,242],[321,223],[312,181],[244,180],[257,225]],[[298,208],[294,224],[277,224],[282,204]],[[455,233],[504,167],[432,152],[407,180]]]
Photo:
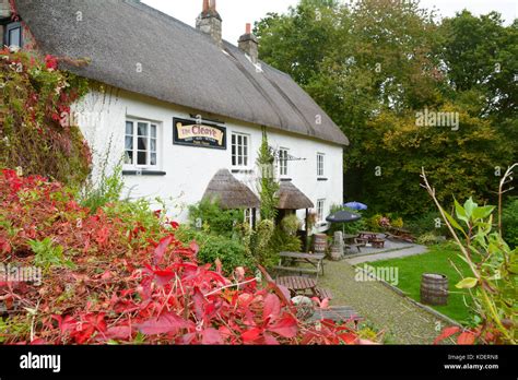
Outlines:
[[[287,74],[260,61],[249,25],[238,47],[222,39],[215,0],[203,1],[196,28],[134,0],[15,4],[39,50],[90,60],[68,69],[99,84],[75,106],[94,176],[123,159],[127,193],[174,199],[184,222],[222,169],[257,193],[266,128],[283,188],[304,193],[326,229],[342,203],[349,141]],[[20,24],[3,24],[4,44],[23,45]]]

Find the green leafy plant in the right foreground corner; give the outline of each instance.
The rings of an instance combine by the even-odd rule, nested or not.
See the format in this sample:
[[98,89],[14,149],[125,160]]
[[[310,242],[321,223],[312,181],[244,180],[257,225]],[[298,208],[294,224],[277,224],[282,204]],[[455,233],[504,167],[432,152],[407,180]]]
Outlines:
[[490,205],[480,206],[470,198],[463,205],[455,201],[456,218],[442,212],[455,231],[461,258],[471,270],[471,275],[456,286],[469,289],[479,320],[498,343],[516,344],[518,249],[511,250],[499,234],[492,230],[494,210]]

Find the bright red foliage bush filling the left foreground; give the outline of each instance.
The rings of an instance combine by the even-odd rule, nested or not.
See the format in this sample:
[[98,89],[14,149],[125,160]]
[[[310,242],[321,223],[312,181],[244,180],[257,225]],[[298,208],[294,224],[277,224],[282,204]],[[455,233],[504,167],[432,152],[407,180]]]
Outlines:
[[220,268],[198,265],[197,245],[179,242],[176,224],[146,231],[125,222],[131,219],[125,215],[107,214],[90,215],[61,185],[45,178],[0,174],[1,262],[33,265],[28,240],[51,238],[74,263],[73,269],[51,266],[40,286],[0,282],[9,314],[4,323],[26,317],[30,325],[0,331],[0,342],[363,343],[345,324],[298,320],[273,283],[231,281]]

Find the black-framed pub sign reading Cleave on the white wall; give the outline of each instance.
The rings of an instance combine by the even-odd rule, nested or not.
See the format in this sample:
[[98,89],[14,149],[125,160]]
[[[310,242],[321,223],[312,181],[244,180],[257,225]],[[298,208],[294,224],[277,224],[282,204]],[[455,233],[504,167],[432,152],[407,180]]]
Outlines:
[[226,128],[200,120],[173,118],[173,143],[226,150]]

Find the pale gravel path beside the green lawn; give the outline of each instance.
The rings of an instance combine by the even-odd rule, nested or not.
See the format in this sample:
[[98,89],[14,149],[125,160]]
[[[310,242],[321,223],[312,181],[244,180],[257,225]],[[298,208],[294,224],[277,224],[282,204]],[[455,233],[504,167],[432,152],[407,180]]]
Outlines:
[[420,309],[378,282],[357,282],[346,261],[326,262],[319,286],[333,294],[331,306],[351,306],[375,328],[386,332],[389,344],[432,344],[445,322]]

